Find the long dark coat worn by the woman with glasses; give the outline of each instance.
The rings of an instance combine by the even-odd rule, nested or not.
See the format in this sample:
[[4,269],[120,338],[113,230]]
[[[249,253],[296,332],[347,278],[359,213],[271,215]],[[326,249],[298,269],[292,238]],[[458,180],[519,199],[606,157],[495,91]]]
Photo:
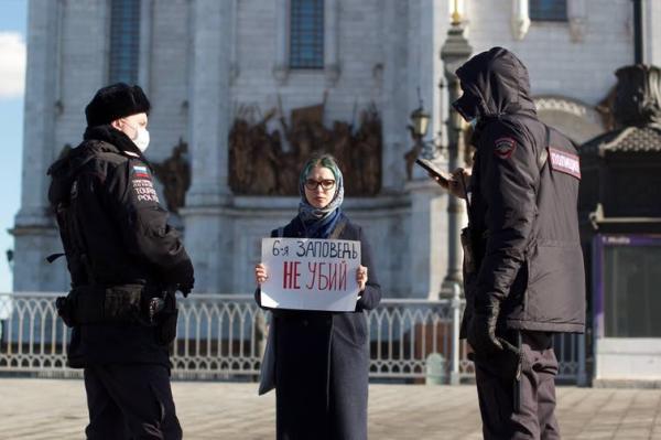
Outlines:
[[[283,236],[305,236],[299,217],[284,227]],[[367,286],[355,312],[273,310],[278,439],[367,439],[369,341],[364,310],[378,305],[381,288],[361,228],[347,221],[337,238],[360,242]]]

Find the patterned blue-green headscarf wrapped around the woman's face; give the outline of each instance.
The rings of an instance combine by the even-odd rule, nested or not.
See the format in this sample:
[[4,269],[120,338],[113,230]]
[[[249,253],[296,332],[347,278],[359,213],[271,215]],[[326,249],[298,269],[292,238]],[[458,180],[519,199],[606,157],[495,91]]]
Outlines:
[[[330,170],[335,176],[335,194],[323,208],[312,206],[305,197],[305,181],[307,175],[315,167],[323,167]],[[299,217],[305,226],[305,236],[307,238],[328,238],[335,229],[337,221],[342,217],[342,202],[344,201],[344,179],[335,158],[330,154],[324,154],[310,159],[303,165],[301,175],[299,176],[299,194],[301,202],[299,203]]]

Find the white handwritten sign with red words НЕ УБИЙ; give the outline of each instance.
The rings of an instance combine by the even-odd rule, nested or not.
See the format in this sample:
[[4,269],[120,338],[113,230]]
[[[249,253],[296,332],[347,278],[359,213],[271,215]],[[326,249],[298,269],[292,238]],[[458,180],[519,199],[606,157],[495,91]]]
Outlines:
[[262,238],[262,264],[269,275],[261,285],[263,307],[356,310],[360,242]]

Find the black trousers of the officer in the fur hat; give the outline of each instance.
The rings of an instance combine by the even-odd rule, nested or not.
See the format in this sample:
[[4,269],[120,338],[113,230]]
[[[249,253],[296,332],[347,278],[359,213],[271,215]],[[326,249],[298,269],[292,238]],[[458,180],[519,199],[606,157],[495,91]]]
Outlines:
[[85,368],[90,440],[181,440],[170,372],[158,364],[94,365]]

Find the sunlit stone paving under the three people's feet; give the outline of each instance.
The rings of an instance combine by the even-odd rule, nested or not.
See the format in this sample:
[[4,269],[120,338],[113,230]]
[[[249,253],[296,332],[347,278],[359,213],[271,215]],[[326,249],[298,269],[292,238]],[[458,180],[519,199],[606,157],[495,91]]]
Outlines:
[[[185,439],[273,439],[274,395],[256,384],[175,382]],[[661,390],[561,387],[563,439],[660,439]],[[0,378],[0,439],[83,439],[85,390],[77,379]],[[475,388],[371,385],[372,440],[480,439]],[[311,439],[314,440],[314,439]]]

